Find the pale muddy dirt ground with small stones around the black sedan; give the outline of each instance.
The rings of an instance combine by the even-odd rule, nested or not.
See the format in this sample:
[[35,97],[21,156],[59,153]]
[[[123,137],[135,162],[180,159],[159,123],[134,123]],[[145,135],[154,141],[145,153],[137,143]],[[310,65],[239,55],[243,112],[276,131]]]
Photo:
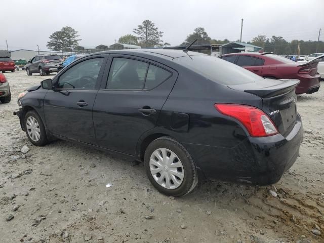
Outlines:
[[65,141],[32,146],[13,111],[17,95],[46,77],[5,75],[13,97],[0,104],[1,242],[324,242],[323,82],[298,96],[304,141],[278,183],[205,182],[170,198],[141,164]]

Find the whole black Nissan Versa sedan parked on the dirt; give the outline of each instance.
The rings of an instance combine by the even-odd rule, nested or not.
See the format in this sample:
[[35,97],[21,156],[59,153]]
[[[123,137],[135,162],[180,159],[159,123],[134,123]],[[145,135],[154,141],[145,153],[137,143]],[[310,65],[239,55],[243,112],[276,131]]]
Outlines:
[[265,79],[188,50],[120,50],[75,60],[18,97],[31,143],[63,139],[144,162],[182,196],[198,180],[277,182],[303,139],[299,80]]

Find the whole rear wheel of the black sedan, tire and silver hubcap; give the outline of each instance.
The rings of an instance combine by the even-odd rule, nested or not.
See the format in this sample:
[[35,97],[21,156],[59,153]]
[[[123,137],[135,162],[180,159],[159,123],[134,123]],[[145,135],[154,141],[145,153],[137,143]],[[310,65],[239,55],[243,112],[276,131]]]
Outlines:
[[170,137],[151,142],[144,156],[148,179],[161,193],[183,196],[197,185],[197,171],[187,149]]

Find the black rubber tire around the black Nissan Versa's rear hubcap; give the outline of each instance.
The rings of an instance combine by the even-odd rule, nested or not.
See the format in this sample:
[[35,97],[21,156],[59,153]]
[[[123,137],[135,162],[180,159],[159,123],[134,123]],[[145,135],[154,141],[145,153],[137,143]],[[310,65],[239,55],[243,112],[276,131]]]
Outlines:
[[[180,186],[175,189],[167,189],[161,185],[159,185],[153,178],[149,160],[151,154],[159,148],[166,148],[175,153],[178,158],[181,160],[183,166],[183,181]],[[152,141],[148,147],[146,148],[144,155],[144,166],[148,179],[152,183],[152,185],[161,193],[170,195],[170,196],[183,196],[189,193],[194,189],[194,187],[198,183],[197,171],[194,165],[193,159],[189,154],[188,150],[179,142],[170,137],[160,137]]]

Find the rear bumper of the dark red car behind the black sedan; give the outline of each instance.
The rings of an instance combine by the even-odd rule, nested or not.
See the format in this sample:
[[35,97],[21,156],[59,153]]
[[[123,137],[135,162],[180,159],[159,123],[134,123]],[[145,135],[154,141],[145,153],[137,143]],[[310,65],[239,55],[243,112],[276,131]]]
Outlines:
[[309,74],[301,74],[296,77],[300,80],[296,87],[296,94],[311,94],[317,92],[320,87],[320,75],[310,76]]

